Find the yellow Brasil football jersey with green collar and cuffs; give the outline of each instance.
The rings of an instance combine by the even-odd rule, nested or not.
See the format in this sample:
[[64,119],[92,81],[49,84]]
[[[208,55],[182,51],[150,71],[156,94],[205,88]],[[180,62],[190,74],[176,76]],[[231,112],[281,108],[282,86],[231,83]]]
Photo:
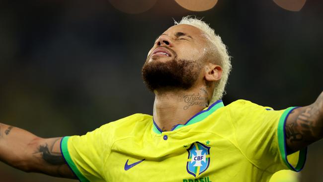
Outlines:
[[268,182],[304,166],[307,149],[286,154],[284,125],[294,108],[218,100],[165,132],[153,116],[134,114],[64,137],[61,150],[81,182]]

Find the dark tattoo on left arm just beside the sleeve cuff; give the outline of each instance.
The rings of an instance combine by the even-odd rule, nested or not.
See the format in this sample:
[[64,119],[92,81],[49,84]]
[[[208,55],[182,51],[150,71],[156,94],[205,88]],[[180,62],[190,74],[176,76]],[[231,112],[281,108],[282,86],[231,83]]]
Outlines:
[[40,145],[37,152],[41,154],[41,157],[44,161],[52,165],[66,164],[61,153],[53,152],[53,146],[58,140],[60,139],[55,140],[50,147],[47,143],[44,145]]

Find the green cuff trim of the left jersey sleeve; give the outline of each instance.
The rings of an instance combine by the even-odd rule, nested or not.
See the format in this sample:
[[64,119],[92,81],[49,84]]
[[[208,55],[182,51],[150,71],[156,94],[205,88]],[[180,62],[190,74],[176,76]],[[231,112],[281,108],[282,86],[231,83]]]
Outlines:
[[61,153],[66,161],[66,163],[68,164],[68,166],[70,167],[70,169],[73,171],[73,173],[79,178],[80,182],[89,182],[79,171],[79,169],[76,167],[76,165],[74,164],[74,162],[72,161],[72,158],[70,156],[69,153],[69,149],[67,147],[67,142],[69,140],[69,136],[64,137],[61,141]]

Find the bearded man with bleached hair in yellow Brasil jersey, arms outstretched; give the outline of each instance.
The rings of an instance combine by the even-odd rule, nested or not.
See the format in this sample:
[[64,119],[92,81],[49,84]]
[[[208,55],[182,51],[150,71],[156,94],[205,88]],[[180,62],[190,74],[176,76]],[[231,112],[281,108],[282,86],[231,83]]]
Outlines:
[[266,182],[300,171],[323,137],[323,93],[275,111],[246,100],[224,106],[231,69],[221,38],[184,17],[149,51],[142,74],[153,116],[134,114],[83,136],[39,138],[0,125],[0,160],[27,172],[81,182]]

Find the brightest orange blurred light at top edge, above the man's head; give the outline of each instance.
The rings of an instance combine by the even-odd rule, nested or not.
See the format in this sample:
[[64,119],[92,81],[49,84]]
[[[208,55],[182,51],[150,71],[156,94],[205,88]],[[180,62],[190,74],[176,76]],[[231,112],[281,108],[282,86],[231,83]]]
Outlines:
[[191,11],[205,11],[215,6],[218,0],[175,0],[182,7]]

